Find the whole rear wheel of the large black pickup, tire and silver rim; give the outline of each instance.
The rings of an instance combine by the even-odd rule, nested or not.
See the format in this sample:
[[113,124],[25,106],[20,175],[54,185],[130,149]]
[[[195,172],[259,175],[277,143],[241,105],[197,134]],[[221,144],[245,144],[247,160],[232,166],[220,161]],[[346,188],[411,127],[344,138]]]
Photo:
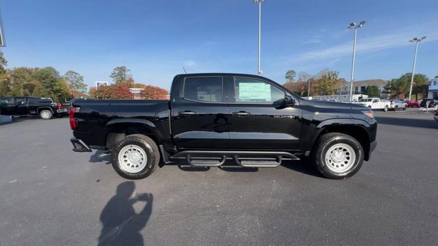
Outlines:
[[155,141],[145,135],[129,135],[112,149],[112,166],[127,179],[141,179],[151,175],[159,163]]

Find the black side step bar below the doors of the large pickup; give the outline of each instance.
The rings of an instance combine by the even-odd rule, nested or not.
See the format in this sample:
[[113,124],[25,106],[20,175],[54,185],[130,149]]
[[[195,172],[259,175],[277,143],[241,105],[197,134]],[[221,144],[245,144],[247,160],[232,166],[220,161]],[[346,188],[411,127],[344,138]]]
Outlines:
[[186,159],[195,167],[218,167],[227,160],[234,160],[241,167],[278,167],[283,160],[299,160],[289,152],[220,150],[185,150],[170,156],[170,159]]

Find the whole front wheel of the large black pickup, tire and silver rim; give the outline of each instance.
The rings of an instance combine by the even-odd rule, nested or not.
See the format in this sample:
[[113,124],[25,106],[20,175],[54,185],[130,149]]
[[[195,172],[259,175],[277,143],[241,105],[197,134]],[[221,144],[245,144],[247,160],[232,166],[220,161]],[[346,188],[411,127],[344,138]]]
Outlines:
[[318,171],[326,178],[350,178],[363,163],[361,143],[344,133],[322,135],[313,153]]

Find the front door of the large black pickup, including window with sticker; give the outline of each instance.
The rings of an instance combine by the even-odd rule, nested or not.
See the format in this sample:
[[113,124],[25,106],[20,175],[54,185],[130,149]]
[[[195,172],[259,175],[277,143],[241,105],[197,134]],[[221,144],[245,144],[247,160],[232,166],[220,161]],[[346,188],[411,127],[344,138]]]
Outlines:
[[230,148],[297,148],[302,110],[298,104],[284,106],[287,92],[271,81],[246,77],[234,77],[229,87]]

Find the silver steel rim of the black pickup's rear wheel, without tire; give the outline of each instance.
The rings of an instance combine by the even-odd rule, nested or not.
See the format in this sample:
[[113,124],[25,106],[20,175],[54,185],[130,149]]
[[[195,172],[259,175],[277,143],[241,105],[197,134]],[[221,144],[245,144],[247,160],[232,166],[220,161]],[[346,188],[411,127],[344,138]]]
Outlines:
[[129,144],[118,152],[120,168],[131,174],[136,174],[146,166],[148,157],[140,146]]

